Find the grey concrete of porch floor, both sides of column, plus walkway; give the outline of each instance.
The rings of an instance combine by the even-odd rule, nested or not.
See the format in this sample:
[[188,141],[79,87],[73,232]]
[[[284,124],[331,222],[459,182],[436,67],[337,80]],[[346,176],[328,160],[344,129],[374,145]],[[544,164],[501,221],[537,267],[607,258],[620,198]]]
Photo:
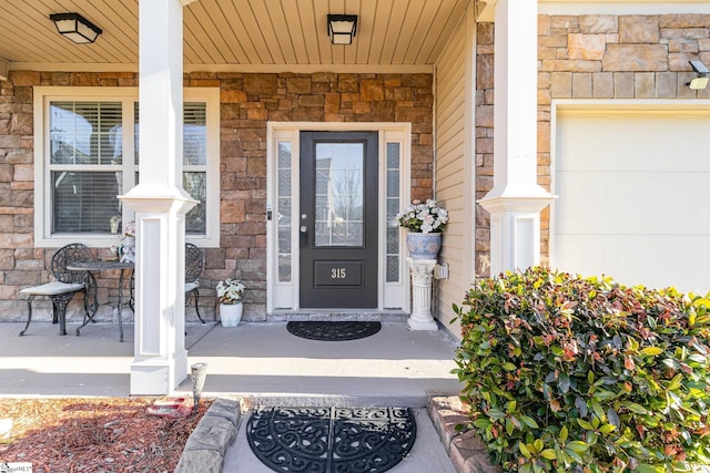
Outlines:
[[[133,361],[133,326],[97,323],[75,337],[58,336],[59,328],[33,322],[0,323],[2,397],[129,395]],[[268,405],[363,405],[416,409],[417,440],[393,473],[454,472],[438,434],[423,409],[429,397],[456,394],[456,341],[444,330],[413,332],[406,323],[383,323],[375,336],[352,341],[305,340],[286,331],[285,322],[242,323],[236,328],[190,323],[185,346],[189,362],[207,363],[203,398],[239,400],[243,409]],[[178,393],[192,392],[190,379]],[[240,423],[226,446],[224,472],[258,473]],[[247,467],[250,465],[251,467]],[[261,464],[260,464],[261,465]],[[420,465],[417,466],[417,465]],[[265,470],[267,471],[267,470]]]

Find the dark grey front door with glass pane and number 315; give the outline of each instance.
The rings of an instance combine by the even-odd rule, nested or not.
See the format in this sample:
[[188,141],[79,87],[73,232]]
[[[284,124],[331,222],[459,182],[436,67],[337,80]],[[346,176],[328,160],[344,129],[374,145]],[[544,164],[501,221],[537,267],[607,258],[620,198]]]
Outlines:
[[301,133],[301,307],[377,307],[377,133]]

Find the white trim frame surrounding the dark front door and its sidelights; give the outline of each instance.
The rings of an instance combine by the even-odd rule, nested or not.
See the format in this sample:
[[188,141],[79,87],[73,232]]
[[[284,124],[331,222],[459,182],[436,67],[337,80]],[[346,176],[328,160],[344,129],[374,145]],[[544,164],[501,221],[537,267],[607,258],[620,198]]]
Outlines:
[[[349,123],[349,122],[267,122],[266,124],[266,141],[268,143],[266,153],[266,208],[276,208],[278,196],[276,195],[276,182],[277,182],[277,144],[278,142],[292,143],[292,208],[291,208],[291,222],[292,222],[292,274],[291,281],[278,281],[278,228],[276,226],[277,219],[272,218],[266,224],[266,312],[273,313],[274,311],[282,310],[300,310],[298,288],[300,288],[300,271],[293,268],[300,267],[298,259],[298,222],[300,222],[300,208],[298,208],[298,169],[300,169],[300,152],[301,143],[300,136],[302,131],[368,131],[378,132],[378,154],[379,154],[379,195],[385,194],[386,186],[386,143],[399,143],[402,146],[402,161],[399,173],[399,200],[402,205],[409,202],[410,195],[410,178],[409,169],[412,163],[412,124],[398,123],[398,122],[374,122],[374,123]],[[409,311],[409,280],[407,273],[406,261],[406,237],[404,230],[399,238],[399,281],[386,282],[386,202],[384,198],[379,199],[378,204],[381,225],[378,229],[378,284],[377,284],[377,309],[387,310],[390,308],[399,308],[400,310]],[[285,308],[283,306],[288,305],[291,307]],[[285,304],[284,304],[285,302]],[[280,308],[276,308],[280,306]]]

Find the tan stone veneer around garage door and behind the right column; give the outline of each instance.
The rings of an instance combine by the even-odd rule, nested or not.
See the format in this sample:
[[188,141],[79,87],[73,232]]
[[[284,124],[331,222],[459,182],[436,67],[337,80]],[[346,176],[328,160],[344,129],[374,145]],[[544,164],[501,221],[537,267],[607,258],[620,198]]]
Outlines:
[[[493,188],[494,28],[478,25],[476,197]],[[710,16],[539,16],[538,184],[550,189],[555,99],[708,99],[686,86],[689,60],[710,63]],[[541,263],[549,261],[549,208],[541,218]],[[490,276],[490,224],[477,206],[476,276]]]

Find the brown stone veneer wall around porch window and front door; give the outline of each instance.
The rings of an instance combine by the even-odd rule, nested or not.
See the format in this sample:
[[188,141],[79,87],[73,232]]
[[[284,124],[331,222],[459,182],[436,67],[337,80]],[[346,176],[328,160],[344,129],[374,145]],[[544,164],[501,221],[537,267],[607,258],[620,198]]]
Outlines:
[[[412,122],[412,197],[426,198],[433,185],[432,83],[432,74],[185,74],[185,86],[220,88],[222,102],[221,248],[205,251],[203,317],[214,313],[214,284],[225,277],[241,278],[247,287],[245,320],[266,316],[266,122]],[[36,85],[136,86],[138,76],[13,71],[0,83],[1,320],[26,317],[18,291],[49,280],[54,253],[33,247]],[[93,251],[108,254],[104,248]],[[99,280],[99,287],[101,304],[114,300],[118,276]],[[50,304],[38,299],[36,305],[43,305],[39,312],[47,318]],[[73,301],[70,315],[81,317],[80,309]]]

